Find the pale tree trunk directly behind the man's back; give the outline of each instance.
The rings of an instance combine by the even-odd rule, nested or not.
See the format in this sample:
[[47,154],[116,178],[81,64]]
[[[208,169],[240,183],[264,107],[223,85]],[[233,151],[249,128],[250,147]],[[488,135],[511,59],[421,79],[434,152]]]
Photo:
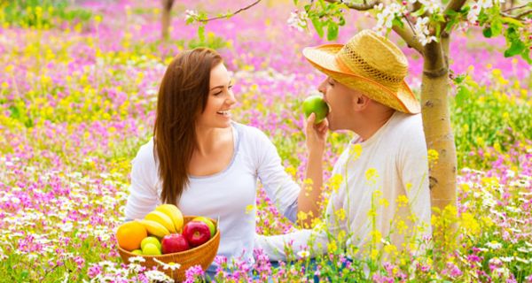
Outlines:
[[[443,44],[448,44],[447,38]],[[429,184],[432,206],[443,210],[448,204],[456,206],[457,154],[454,134],[450,126],[449,67],[440,42],[426,44],[423,78],[421,82],[421,112],[426,147],[438,153],[431,167]]]

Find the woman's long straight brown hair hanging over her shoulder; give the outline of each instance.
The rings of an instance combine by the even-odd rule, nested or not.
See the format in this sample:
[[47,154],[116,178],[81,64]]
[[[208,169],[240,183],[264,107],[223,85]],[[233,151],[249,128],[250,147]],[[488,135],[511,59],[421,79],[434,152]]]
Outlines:
[[163,203],[177,205],[189,184],[188,165],[196,148],[195,122],[207,106],[211,69],[222,62],[215,50],[186,50],[172,60],[162,78],[153,154],[159,161]]

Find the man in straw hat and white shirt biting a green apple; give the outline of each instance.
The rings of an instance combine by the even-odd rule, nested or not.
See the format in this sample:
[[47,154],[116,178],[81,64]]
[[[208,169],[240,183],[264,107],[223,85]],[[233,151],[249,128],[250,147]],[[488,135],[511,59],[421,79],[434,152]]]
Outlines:
[[355,138],[334,165],[332,176],[341,181],[332,189],[325,229],[258,235],[255,249],[270,260],[286,260],[286,245],[294,255],[335,246],[361,258],[377,257],[383,245],[395,248],[388,252],[419,251],[431,233],[431,205],[419,102],[404,82],[406,57],[371,30],[303,55],[327,75],[318,89],[330,105],[329,129],[352,131]]

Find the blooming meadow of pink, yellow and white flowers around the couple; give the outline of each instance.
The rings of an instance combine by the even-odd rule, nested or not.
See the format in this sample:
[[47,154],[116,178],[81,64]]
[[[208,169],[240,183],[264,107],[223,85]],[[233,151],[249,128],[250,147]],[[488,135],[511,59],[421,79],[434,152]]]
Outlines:
[[[236,81],[234,119],[266,133],[286,171],[303,183],[301,102],[324,76],[301,50],[326,41],[288,25],[292,1],[263,1],[211,21],[203,37],[185,24],[187,11],[215,15],[246,4],[178,1],[170,39],[162,42],[159,1],[0,2],[1,282],[171,281],[145,270],[142,257],[122,263],[114,231],[124,221],[130,161],[153,134],[160,79],[184,49],[208,46],[223,55]],[[338,42],[374,25],[354,11],[346,21]],[[278,265],[255,250],[253,265],[215,258],[215,280],[532,282],[531,68],[520,57],[503,57],[503,38],[480,33],[458,33],[450,46],[451,69],[464,80],[450,97],[458,205],[435,213],[432,223],[443,249],[414,255],[375,234],[384,249],[362,259],[349,260],[335,241],[325,256],[311,261],[300,252]],[[408,82],[419,92],[419,56],[390,36],[409,58]],[[350,136],[328,139],[330,192],[339,180],[329,172]],[[256,207],[257,233],[299,226],[282,218],[262,190]],[[200,268],[186,274],[189,282],[202,281]]]

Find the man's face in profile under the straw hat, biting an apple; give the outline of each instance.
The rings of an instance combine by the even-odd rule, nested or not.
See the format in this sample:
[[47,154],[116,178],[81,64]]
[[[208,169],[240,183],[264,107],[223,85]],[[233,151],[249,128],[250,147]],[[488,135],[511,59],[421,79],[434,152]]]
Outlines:
[[330,107],[327,114],[329,129],[331,131],[346,129],[352,105],[351,89],[331,77],[325,78],[317,89],[324,95],[324,100]]

